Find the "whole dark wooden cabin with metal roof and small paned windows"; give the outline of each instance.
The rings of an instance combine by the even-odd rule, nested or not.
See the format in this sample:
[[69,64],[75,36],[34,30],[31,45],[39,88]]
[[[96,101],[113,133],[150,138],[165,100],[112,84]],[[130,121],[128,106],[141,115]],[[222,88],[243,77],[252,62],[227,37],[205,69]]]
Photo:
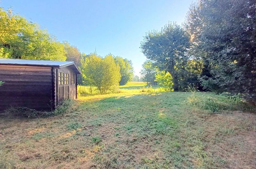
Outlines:
[[0,59],[0,111],[54,110],[64,99],[77,98],[77,74],[71,61]]

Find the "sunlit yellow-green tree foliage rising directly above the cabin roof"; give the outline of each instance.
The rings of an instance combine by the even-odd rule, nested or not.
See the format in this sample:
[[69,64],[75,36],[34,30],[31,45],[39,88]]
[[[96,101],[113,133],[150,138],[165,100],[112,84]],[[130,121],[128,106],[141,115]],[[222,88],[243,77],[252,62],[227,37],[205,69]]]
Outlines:
[[62,43],[36,23],[0,8],[0,57],[32,60],[66,60]]

